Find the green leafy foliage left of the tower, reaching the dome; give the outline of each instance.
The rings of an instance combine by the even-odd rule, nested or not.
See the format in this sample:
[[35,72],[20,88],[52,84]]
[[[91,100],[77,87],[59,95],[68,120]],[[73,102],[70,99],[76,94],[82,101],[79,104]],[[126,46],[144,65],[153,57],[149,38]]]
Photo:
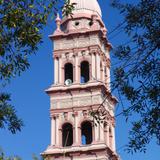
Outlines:
[[[68,16],[74,8],[69,0],[0,0],[0,88],[29,68],[28,58],[42,43],[42,30],[64,4]],[[8,103],[10,95],[0,91],[0,128],[8,126],[16,133],[23,125],[14,107]]]

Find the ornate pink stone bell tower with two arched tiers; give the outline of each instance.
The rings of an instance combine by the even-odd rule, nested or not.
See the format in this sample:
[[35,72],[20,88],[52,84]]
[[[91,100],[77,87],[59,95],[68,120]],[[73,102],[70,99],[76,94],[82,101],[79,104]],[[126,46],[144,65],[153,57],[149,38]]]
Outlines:
[[[51,144],[42,155],[49,160],[118,160],[107,30],[97,0],[73,2],[73,16],[57,16],[57,29],[50,35],[54,84],[46,92]],[[90,115],[99,109],[106,113],[101,123]]]

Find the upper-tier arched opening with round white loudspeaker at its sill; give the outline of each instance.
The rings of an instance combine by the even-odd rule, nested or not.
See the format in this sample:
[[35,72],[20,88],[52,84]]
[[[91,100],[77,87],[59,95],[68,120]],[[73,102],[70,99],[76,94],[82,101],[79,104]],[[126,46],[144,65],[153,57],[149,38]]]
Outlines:
[[71,63],[65,64],[65,82],[70,79],[73,82],[73,65]]

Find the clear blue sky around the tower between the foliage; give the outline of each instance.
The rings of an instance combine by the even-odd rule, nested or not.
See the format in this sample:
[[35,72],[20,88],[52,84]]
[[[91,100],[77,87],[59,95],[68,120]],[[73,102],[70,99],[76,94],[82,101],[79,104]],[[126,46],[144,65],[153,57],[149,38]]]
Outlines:
[[[108,1],[99,0],[99,3],[109,32],[121,22],[121,16],[109,6]],[[6,87],[12,93],[12,103],[25,126],[16,135],[0,130],[0,146],[8,155],[19,155],[23,160],[30,160],[33,153],[39,155],[50,143],[49,97],[44,90],[53,82],[52,43],[48,35],[54,29],[53,20],[43,31],[44,43],[40,45],[37,55],[30,58],[30,69],[13,79]],[[116,47],[126,37],[121,33],[110,38],[113,47]],[[120,111],[121,107],[118,107],[117,113]],[[124,117],[119,116],[116,123],[116,143],[123,160],[152,160],[160,157],[160,148],[154,140],[148,146],[146,154],[127,154],[123,146],[127,143],[128,129],[129,124],[126,124]]]

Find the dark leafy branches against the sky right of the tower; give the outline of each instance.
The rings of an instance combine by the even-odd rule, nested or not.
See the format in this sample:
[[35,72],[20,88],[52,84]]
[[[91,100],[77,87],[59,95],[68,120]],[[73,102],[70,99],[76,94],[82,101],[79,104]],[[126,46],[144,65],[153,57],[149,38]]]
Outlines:
[[123,114],[133,116],[128,152],[145,152],[152,139],[160,144],[160,1],[137,4],[113,1],[124,16],[129,42],[114,50],[119,65],[114,84],[130,103]]

